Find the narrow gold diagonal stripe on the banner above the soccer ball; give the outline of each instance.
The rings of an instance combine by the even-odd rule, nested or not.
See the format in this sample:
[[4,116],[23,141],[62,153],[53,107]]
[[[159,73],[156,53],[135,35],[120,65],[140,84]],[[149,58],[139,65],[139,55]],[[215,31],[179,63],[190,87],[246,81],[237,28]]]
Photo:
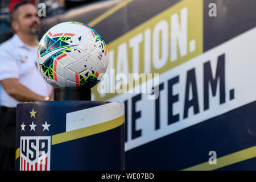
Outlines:
[[118,5],[116,5],[114,7],[112,7],[112,9],[106,11],[104,14],[98,16],[97,18],[92,20],[90,23],[88,23],[88,26],[93,27],[94,25],[98,24],[99,22],[101,22],[102,20],[107,18],[108,16],[115,13],[115,11],[117,11],[117,10],[121,9],[123,6],[126,6],[127,4],[129,4],[131,1],[133,1],[133,0],[126,0],[126,1],[119,3]]

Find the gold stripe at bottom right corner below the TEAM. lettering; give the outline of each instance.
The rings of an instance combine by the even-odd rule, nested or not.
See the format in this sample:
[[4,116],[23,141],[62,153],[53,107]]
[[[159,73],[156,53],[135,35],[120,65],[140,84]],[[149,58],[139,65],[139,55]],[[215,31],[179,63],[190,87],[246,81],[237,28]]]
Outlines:
[[244,150],[234,152],[229,155],[222,156],[221,158],[217,158],[217,164],[209,164],[209,162],[205,162],[205,163],[198,164],[196,166],[183,169],[182,171],[212,171],[214,169],[229,166],[231,164],[242,162],[243,160],[247,160],[255,157],[256,157],[256,146],[246,148]]

